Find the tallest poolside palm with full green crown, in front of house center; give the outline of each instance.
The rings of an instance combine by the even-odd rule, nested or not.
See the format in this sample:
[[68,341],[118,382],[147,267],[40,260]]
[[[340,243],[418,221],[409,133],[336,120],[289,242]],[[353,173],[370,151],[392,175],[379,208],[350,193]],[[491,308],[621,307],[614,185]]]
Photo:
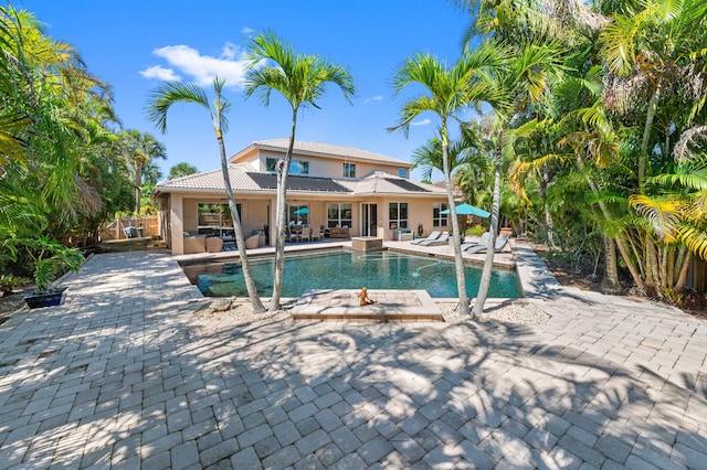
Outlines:
[[285,203],[287,197],[287,175],[295,146],[297,114],[302,107],[319,108],[317,100],[326,92],[326,85],[338,85],[344,97],[350,103],[354,96],[354,79],[338,64],[331,64],[318,55],[303,55],[293,51],[272,32],[260,33],[249,45],[251,67],[245,77],[245,96],[257,93],[263,104],[270,105],[273,90],[278,92],[292,107],[289,146],[285,158],[275,167],[277,172],[277,200],[275,207],[275,275],[270,310],[278,310],[285,263]]

